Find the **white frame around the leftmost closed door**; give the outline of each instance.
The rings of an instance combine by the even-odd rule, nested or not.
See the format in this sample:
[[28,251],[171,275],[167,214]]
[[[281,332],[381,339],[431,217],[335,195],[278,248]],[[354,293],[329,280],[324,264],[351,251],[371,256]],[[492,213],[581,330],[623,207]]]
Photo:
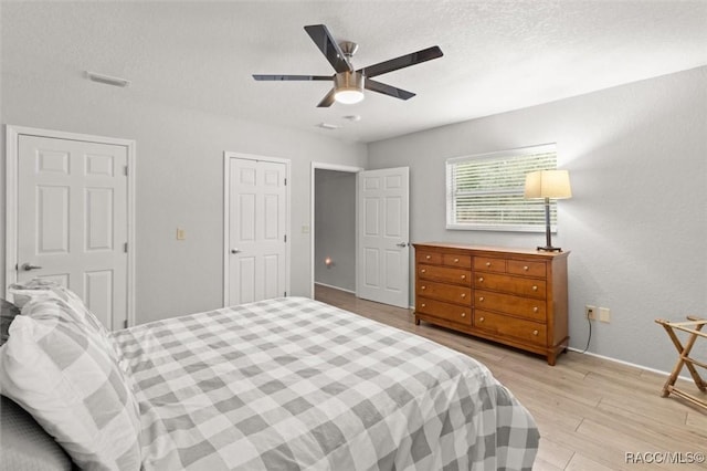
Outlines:
[[88,134],[67,133],[63,130],[42,129],[27,126],[6,125],[6,266],[4,285],[0,293],[7,297],[7,286],[17,282],[18,272],[18,168],[19,168],[19,139],[20,136],[48,137],[64,140],[81,140],[96,144],[124,146],[127,149],[127,322],[128,326],[135,325],[135,156],[136,142],[117,137],[95,136]]

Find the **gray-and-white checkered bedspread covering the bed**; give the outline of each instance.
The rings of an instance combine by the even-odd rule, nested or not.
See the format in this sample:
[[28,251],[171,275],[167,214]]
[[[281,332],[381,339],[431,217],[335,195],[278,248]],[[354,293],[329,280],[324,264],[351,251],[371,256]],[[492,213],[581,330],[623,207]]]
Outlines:
[[286,297],[115,334],[146,470],[530,469],[539,433],[474,359]]

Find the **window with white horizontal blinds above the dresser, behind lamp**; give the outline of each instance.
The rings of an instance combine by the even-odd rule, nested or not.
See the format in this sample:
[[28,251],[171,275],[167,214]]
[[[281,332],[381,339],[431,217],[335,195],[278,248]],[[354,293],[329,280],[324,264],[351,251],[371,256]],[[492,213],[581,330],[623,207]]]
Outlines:
[[[545,231],[542,200],[523,196],[526,174],[556,168],[555,144],[447,159],[447,229]],[[557,226],[556,200],[550,226]]]

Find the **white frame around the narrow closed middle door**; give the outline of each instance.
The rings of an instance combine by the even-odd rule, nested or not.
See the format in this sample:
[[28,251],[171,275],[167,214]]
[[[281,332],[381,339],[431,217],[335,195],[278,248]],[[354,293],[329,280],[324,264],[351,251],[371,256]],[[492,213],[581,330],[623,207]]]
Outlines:
[[285,165],[285,192],[287,195],[287,202],[285,205],[285,233],[288,236],[285,240],[285,292],[291,293],[291,253],[292,253],[292,178],[291,178],[291,167],[292,163],[289,159],[279,158],[279,157],[266,157],[254,154],[243,154],[243,153],[234,153],[224,150],[223,153],[223,307],[230,305],[230,283],[231,283],[231,271],[229,268],[229,257],[231,252],[231,248],[229,247],[230,241],[230,229],[231,229],[231,159],[232,158],[242,158],[247,160],[257,160],[257,161],[270,161],[274,164],[284,164]]

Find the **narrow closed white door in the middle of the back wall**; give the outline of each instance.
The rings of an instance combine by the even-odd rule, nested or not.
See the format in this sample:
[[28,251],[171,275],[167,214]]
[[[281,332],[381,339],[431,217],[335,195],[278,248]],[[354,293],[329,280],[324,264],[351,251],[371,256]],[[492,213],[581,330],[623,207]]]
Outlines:
[[287,295],[287,166],[230,159],[231,305]]

